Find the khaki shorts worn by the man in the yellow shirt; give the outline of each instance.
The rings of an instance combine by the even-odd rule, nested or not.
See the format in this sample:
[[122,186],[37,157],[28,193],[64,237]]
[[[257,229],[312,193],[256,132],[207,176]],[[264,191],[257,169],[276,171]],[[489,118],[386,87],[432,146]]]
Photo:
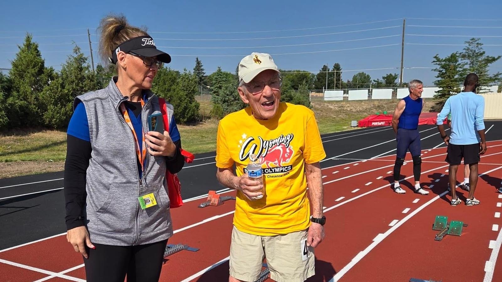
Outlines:
[[260,278],[267,258],[270,278],[277,282],[303,282],[315,274],[314,248],[307,247],[307,230],[284,235],[258,236],[233,227],[230,276],[242,281]]

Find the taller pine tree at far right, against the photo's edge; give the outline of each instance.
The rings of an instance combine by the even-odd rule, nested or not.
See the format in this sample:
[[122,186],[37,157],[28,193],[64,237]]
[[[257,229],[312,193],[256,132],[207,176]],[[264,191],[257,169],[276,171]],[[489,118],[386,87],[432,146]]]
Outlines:
[[[497,84],[502,81],[500,77],[502,74],[497,72],[490,75],[488,67],[494,62],[498,61],[502,56],[486,56],[483,50],[483,44],[479,42],[479,38],[471,38],[466,41],[466,47],[464,47],[463,52],[459,54],[460,58],[466,64],[467,68],[462,72],[461,76],[465,76],[469,73],[475,73],[479,77],[480,89],[477,89],[478,93],[486,93],[486,87],[492,84]],[[484,88],[484,89],[483,89]]]

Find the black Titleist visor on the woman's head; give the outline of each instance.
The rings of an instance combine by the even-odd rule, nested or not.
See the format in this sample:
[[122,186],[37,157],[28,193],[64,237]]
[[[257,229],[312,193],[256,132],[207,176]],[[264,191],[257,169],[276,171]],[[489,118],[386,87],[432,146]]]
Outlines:
[[115,52],[111,54],[110,61],[113,64],[117,63],[117,53],[118,52],[133,52],[135,54],[144,56],[144,57],[155,57],[157,56],[157,59],[163,63],[170,63],[171,62],[171,56],[169,54],[160,51],[157,49],[155,46],[154,40],[150,36],[139,36],[132,38],[128,41],[122,42],[120,45],[117,46],[115,49]]

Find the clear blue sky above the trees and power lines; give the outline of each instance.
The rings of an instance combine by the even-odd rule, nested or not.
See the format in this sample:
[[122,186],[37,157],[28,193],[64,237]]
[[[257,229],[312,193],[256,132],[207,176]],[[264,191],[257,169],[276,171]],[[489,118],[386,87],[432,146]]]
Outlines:
[[[485,46],[486,53],[502,55],[501,1],[88,0],[73,5],[69,1],[49,3],[30,0],[2,4],[0,68],[10,68],[10,61],[18,50],[16,44],[22,44],[24,35],[30,32],[40,44],[46,65],[59,69],[71,54],[72,42],[76,42],[84,54],[90,54],[87,28],[93,42],[94,62],[98,63],[95,28],[110,12],[124,14],[132,25],[148,27],[157,47],[172,55],[169,64],[172,69],[192,70],[193,55],[199,55],[206,74],[218,66],[234,71],[240,59],[251,52],[287,54],[273,55],[282,69],[316,72],[323,64],[331,68],[338,62],[346,71],[343,80],[357,73],[352,70],[380,69],[365,71],[372,79],[389,72],[399,73],[403,18],[407,19],[404,66],[409,68],[404,71],[405,81],[416,78],[431,85],[435,79],[430,69],[432,57],[435,54],[444,57],[463,48],[410,44],[463,44],[469,37],[459,36],[491,36],[481,37],[481,42],[500,46]],[[476,21],[458,20],[462,18]],[[340,49],[352,50],[330,51]],[[492,65],[490,71],[502,71],[502,60]]]

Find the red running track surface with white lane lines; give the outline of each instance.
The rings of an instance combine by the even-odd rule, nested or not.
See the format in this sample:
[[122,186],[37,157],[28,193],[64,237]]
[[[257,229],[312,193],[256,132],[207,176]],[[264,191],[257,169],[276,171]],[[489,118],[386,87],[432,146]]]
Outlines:
[[[326,237],[315,250],[316,275],[308,281],[409,281],[411,277],[501,281],[502,207],[498,205],[502,204],[498,203],[502,198],[498,196],[502,194],[495,188],[502,186],[502,142],[488,146],[479,165],[479,173],[486,174],[480,176],[475,193],[481,204],[474,207],[449,205],[450,196],[444,195],[448,181],[444,148],[422,152],[421,181],[430,191],[427,196],[411,191],[412,163],[402,168],[407,193],[392,192],[389,172],[394,156],[323,169]],[[457,179],[462,178],[460,169]],[[459,192],[460,199],[465,196]],[[200,250],[167,257],[161,281],[228,280],[234,203],[197,208],[203,201],[189,201],[172,210],[175,235],[169,242]],[[460,237],[448,235],[435,241],[436,215],[469,226]],[[495,224],[499,227],[494,228]],[[0,280],[83,281],[82,263],[64,235],[54,236],[0,252]]]

